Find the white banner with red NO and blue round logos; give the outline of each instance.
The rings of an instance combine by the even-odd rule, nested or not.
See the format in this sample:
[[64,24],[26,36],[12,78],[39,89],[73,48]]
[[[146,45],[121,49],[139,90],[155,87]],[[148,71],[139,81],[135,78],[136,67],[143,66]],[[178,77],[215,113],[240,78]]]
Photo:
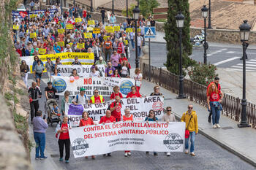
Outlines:
[[[115,82],[120,88],[120,93],[127,96],[135,80],[129,78],[110,77],[111,82]],[[105,77],[63,77],[53,76],[53,87],[56,88],[57,95],[64,96],[65,90],[69,90],[70,96],[76,96],[80,88],[86,89],[87,96],[93,96],[95,89],[99,90],[99,95],[110,96],[113,93],[113,86]]]

